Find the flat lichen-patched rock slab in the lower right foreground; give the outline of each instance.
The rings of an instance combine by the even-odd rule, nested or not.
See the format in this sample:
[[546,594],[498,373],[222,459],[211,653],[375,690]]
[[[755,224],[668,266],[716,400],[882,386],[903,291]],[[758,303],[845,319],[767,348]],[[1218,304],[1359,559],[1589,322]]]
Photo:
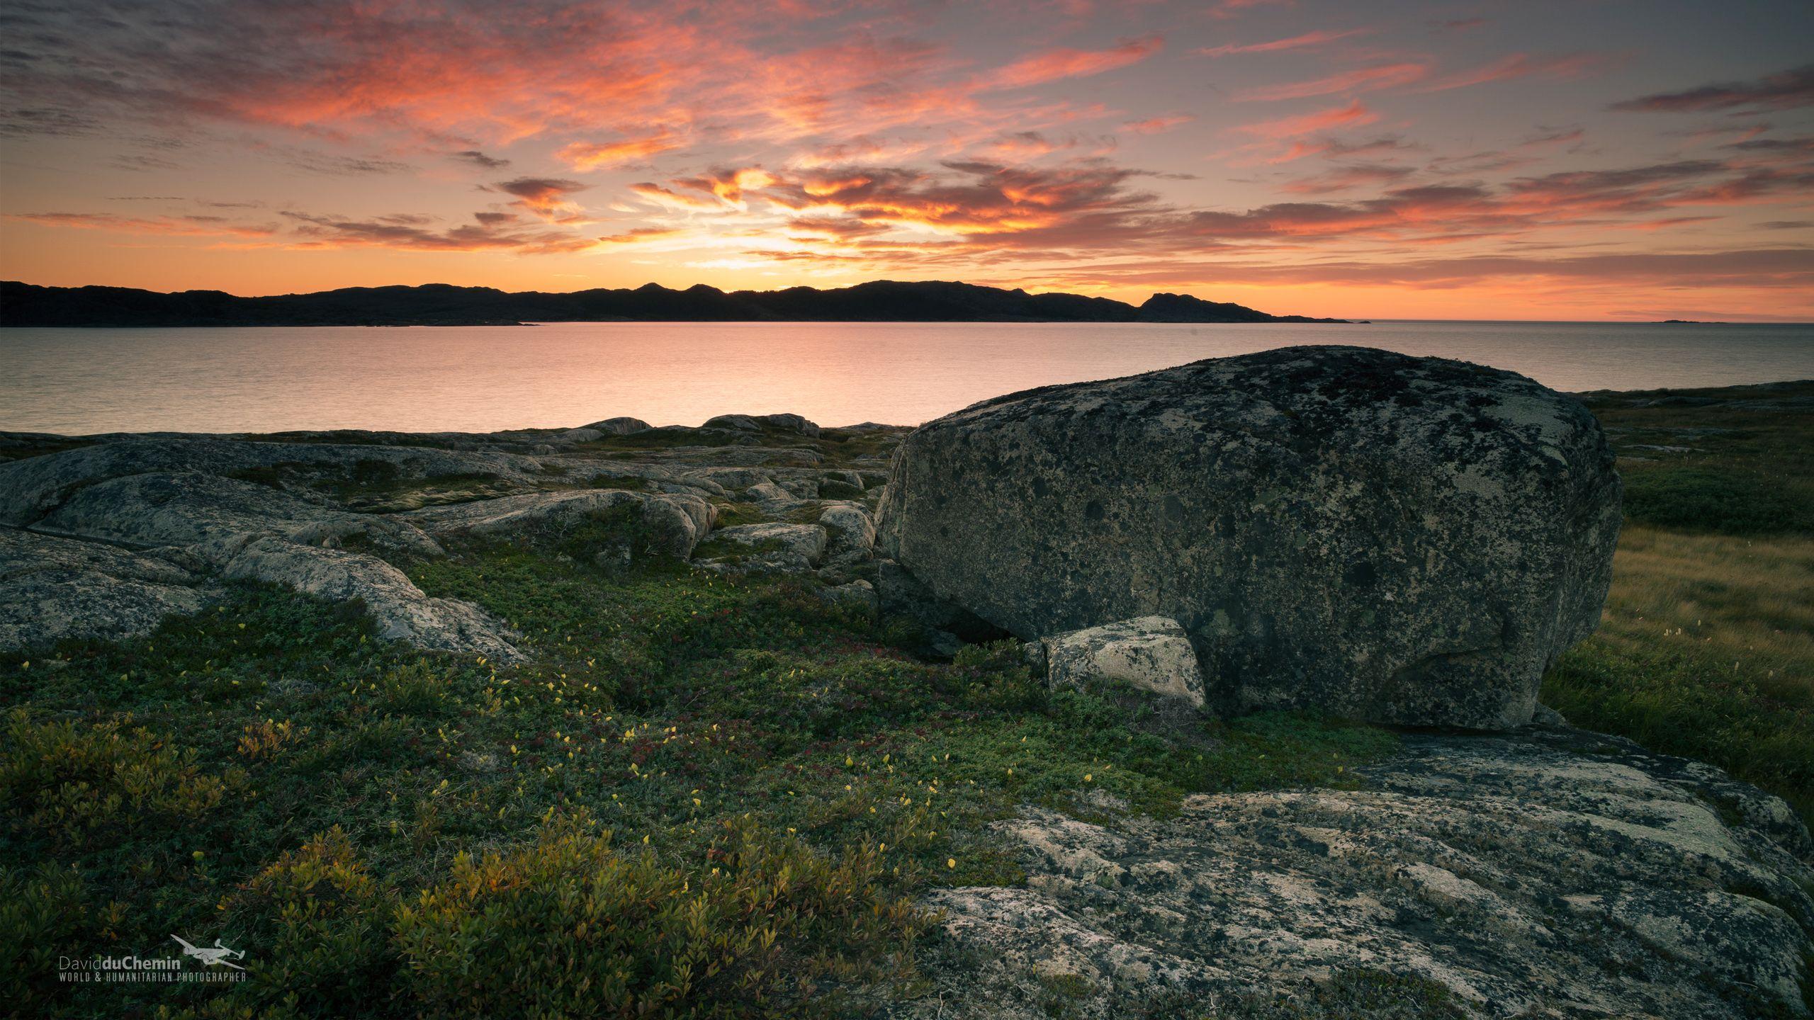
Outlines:
[[1067,1016],[1241,1016],[1348,969],[1471,1016],[1805,1015],[1814,848],[1780,799],[1567,730],[1408,737],[1357,780],[1166,820],[1025,809],[998,826],[1025,888],[934,893],[958,949],[891,1015],[1034,1020],[1063,980]]

